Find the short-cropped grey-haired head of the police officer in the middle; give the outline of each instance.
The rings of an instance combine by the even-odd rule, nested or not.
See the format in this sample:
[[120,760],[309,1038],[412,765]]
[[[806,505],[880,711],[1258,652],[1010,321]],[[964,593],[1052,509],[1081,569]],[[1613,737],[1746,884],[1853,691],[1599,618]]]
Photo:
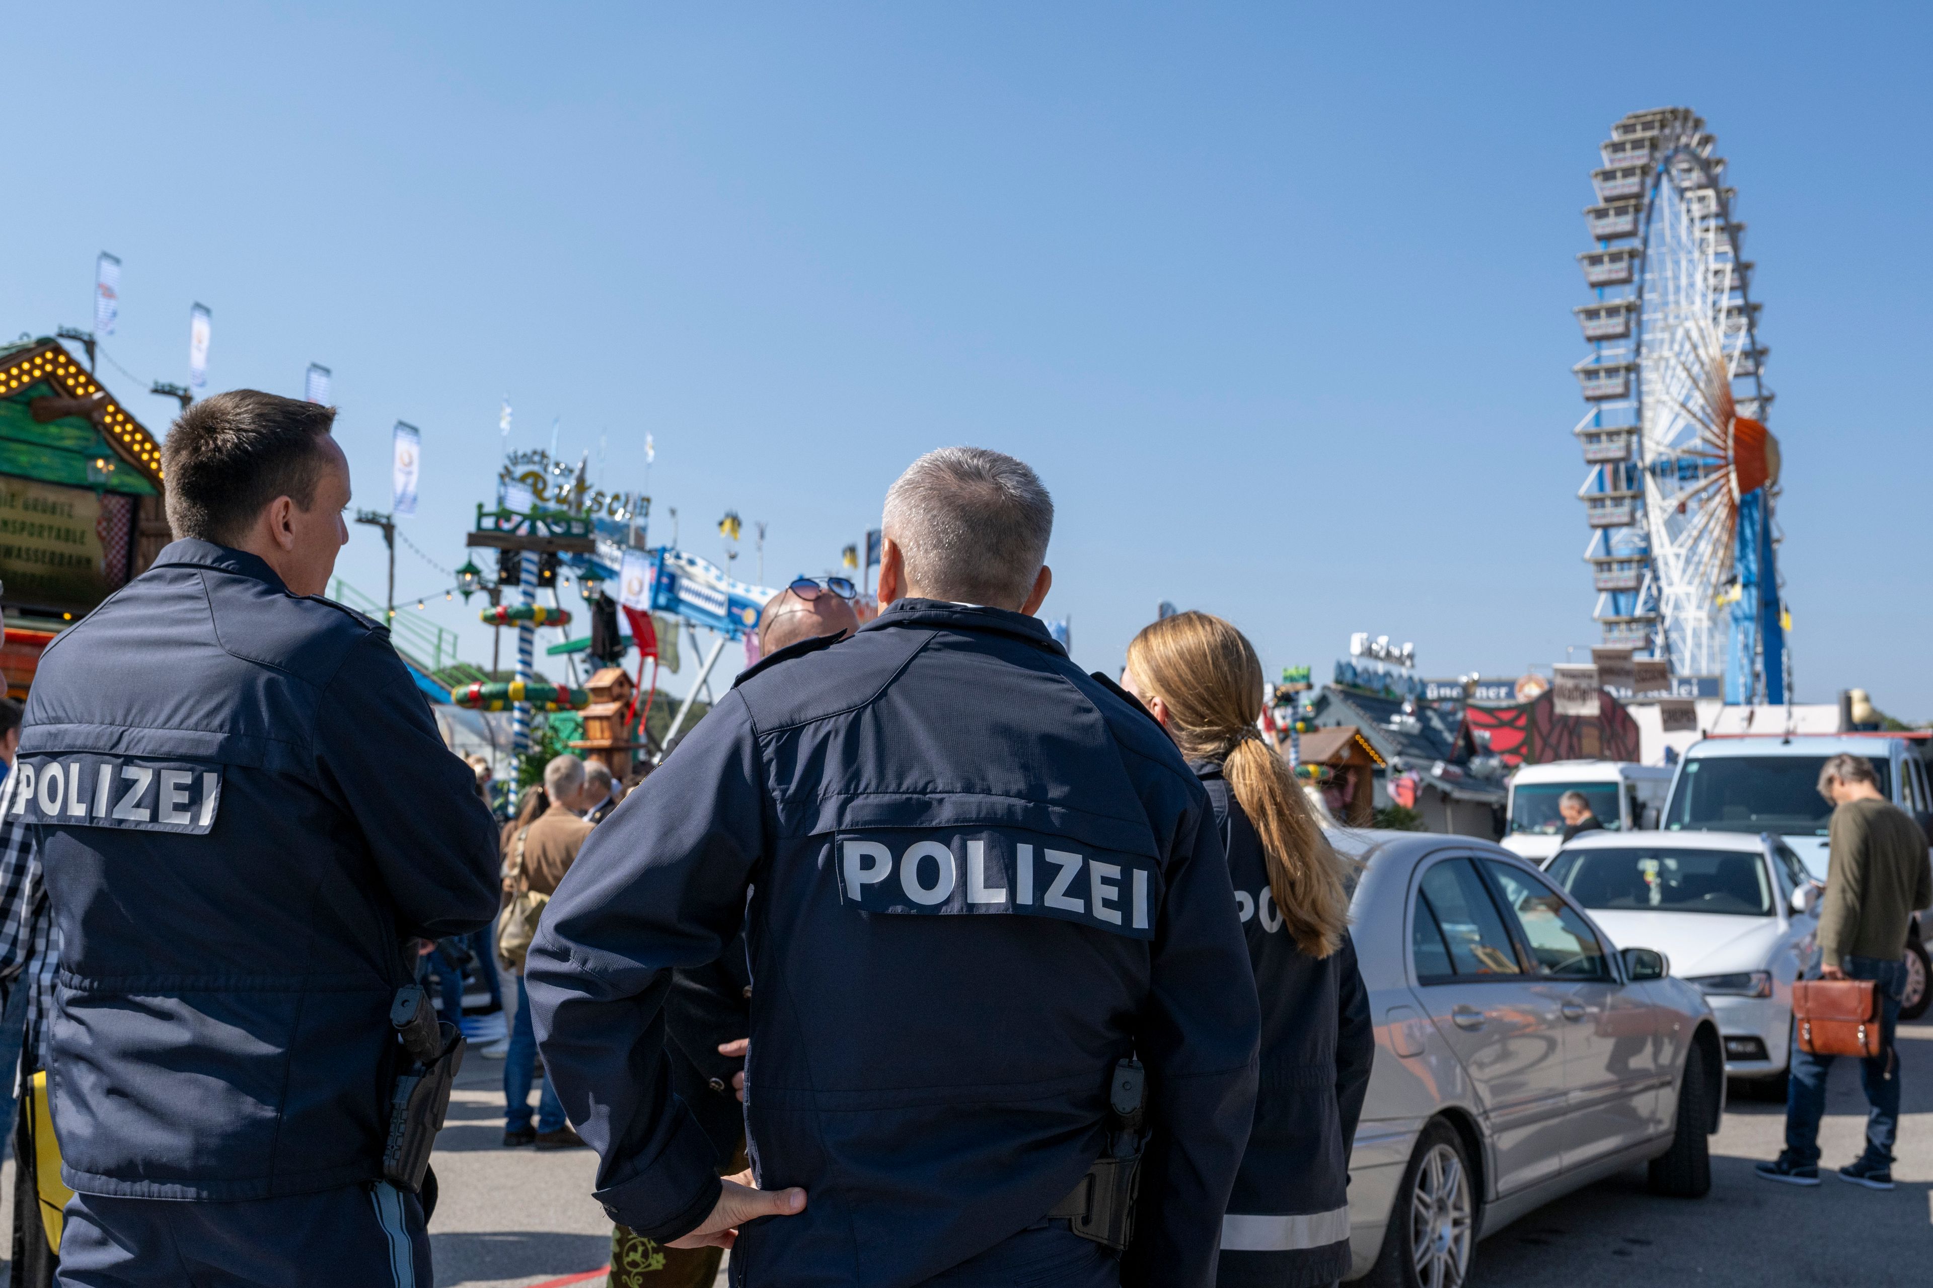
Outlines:
[[907,583],[920,595],[1019,608],[1048,558],[1053,498],[1024,462],[939,448],[885,492],[881,531],[905,554]]

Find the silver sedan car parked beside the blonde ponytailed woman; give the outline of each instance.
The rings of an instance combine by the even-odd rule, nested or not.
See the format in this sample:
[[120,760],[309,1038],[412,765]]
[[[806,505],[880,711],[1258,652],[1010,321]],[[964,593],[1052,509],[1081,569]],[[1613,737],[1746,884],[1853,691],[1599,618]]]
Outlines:
[[1724,1050],[1705,996],[1662,954],[1618,952],[1500,846],[1332,840],[1363,863],[1351,913],[1376,1023],[1351,1278],[1456,1288],[1479,1238],[1639,1162],[1659,1193],[1711,1188]]

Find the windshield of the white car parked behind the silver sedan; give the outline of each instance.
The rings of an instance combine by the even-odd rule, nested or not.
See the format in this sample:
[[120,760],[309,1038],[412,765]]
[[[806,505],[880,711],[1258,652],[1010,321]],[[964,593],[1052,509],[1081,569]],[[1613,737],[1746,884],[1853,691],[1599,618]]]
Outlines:
[[1765,859],[1736,850],[1562,850],[1550,877],[1593,911],[1773,915]]

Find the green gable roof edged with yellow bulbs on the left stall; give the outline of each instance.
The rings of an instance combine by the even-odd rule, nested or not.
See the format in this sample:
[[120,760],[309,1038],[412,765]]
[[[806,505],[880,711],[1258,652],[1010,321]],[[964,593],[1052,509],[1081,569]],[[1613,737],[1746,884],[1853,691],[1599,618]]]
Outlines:
[[160,494],[160,444],[58,340],[0,348],[0,473]]

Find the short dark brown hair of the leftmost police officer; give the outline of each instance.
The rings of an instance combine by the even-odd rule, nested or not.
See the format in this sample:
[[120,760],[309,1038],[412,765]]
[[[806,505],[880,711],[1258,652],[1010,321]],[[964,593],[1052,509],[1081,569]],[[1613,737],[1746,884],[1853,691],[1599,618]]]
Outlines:
[[168,527],[232,546],[276,496],[307,510],[336,409],[238,388],[188,407],[160,444]]

